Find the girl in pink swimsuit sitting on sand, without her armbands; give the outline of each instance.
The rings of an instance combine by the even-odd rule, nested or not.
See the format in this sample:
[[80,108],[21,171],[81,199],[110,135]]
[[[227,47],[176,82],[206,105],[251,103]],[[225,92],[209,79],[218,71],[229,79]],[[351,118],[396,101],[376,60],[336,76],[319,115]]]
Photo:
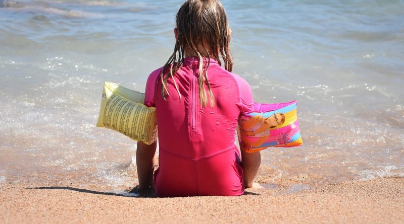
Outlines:
[[[230,28],[219,0],[188,0],[176,16],[174,53],[148,77],[144,104],[156,107],[156,143],[138,142],[140,191],[158,196],[235,196],[256,187],[261,155],[234,144],[239,116],[254,109],[249,85],[231,73]],[[223,63],[220,59],[223,59]],[[153,175],[154,172],[154,175]]]

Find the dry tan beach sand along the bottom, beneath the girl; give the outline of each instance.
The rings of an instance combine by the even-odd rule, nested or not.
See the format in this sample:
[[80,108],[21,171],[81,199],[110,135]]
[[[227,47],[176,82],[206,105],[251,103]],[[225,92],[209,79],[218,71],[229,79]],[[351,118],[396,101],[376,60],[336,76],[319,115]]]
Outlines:
[[[94,188],[0,184],[0,223],[403,223],[404,179],[305,189],[270,184],[239,197],[126,197]],[[293,187],[295,186],[295,187]]]

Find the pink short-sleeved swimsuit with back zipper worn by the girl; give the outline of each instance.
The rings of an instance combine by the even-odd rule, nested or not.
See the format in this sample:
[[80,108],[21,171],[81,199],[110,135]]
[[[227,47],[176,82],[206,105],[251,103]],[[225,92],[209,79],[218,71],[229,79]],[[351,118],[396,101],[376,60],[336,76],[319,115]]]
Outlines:
[[160,155],[154,184],[158,196],[243,194],[243,170],[234,140],[238,117],[254,109],[249,85],[210,59],[208,79],[216,104],[201,108],[197,58],[185,58],[174,76],[181,100],[172,79],[167,81],[170,95],[162,98],[161,69],[148,77],[144,100],[157,111]]

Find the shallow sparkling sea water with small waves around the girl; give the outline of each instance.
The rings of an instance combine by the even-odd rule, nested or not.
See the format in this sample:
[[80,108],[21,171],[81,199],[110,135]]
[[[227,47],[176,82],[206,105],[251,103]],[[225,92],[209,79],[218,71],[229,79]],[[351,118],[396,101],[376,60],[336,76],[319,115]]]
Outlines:
[[[0,1],[0,182],[136,184],[135,142],[96,128],[104,81],[143,92],[182,1]],[[274,181],[404,176],[404,1],[223,1],[234,72],[297,100],[304,146],[263,152]]]

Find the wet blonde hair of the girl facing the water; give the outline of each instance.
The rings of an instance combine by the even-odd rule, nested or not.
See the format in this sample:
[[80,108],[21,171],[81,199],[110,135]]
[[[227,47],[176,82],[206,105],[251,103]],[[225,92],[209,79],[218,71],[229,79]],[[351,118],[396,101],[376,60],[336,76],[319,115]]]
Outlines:
[[[167,80],[172,78],[175,89],[181,100],[181,95],[174,79],[175,73],[183,65],[185,50],[191,50],[199,59],[199,102],[201,107],[205,107],[208,98],[204,84],[208,86],[210,106],[215,106],[215,98],[208,80],[208,67],[210,58],[222,62],[228,71],[233,69],[233,58],[230,53],[230,29],[227,22],[226,11],[219,0],[188,0],[178,10],[176,15],[177,41],[174,52],[163,66],[161,73],[161,95],[164,99],[166,94],[170,95],[167,88]],[[205,43],[204,43],[205,42]],[[208,44],[208,46],[205,46]],[[198,46],[204,49],[203,54]],[[208,59],[205,59],[205,58]]]

